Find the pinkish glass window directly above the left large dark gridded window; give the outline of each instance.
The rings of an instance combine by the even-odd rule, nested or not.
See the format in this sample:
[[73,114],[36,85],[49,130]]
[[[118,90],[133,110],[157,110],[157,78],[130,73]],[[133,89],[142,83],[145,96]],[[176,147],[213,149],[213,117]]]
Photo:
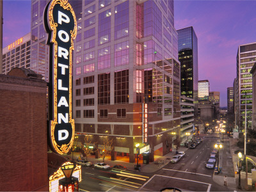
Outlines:
[[110,46],[98,51],[98,70],[110,68]]

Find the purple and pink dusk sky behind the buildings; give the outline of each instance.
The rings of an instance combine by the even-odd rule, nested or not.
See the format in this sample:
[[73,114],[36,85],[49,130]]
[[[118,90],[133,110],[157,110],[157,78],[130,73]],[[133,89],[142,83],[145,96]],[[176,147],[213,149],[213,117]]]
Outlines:
[[[198,38],[198,79],[208,79],[227,106],[236,77],[238,45],[256,42],[256,1],[174,1],[175,28],[193,26]],[[3,47],[30,32],[31,1],[3,1]]]

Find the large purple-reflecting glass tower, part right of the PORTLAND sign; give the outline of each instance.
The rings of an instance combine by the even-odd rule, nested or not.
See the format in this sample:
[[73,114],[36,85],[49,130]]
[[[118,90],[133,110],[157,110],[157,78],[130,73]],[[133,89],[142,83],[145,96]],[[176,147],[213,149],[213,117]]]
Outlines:
[[98,148],[102,137],[113,138],[112,160],[126,153],[134,162],[135,143],[150,145],[151,161],[154,155],[166,154],[172,146],[171,132],[180,138],[173,1],[83,1],[77,25],[76,132],[92,135]]

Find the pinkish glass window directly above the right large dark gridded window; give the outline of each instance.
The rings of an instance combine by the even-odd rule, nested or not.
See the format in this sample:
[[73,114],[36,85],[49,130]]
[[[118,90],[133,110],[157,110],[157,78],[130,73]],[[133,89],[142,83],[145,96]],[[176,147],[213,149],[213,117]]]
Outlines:
[[129,42],[115,44],[115,67],[129,63]]

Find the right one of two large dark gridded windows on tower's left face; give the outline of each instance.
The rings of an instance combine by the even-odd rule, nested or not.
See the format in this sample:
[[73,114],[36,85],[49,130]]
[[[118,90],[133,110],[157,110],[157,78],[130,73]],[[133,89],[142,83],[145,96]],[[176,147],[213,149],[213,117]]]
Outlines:
[[129,70],[115,72],[115,104],[129,102]]

